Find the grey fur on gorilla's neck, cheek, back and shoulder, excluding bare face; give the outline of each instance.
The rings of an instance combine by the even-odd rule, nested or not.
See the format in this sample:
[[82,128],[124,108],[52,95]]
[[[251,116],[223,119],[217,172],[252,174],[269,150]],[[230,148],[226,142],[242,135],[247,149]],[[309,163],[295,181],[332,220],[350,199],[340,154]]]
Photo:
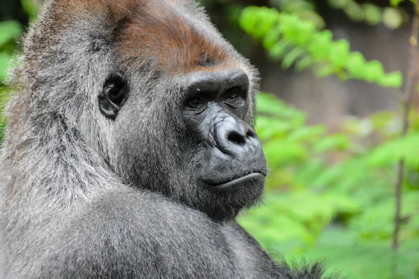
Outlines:
[[[177,116],[187,78],[156,78],[153,62],[118,59],[105,12],[57,24],[57,13],[71,12],[63,1],[45,4],[13,73],[0,162],[0,277],[321,278],[318,266],[293,273],[274,264],[234,218],[201,210],[219,204],[189,181],[202,154],[188,149]],[[240,61],[253,93],[256,71],[203,10],[170,6]],[[97,95],[115,70],[132,92],[113,122]]]

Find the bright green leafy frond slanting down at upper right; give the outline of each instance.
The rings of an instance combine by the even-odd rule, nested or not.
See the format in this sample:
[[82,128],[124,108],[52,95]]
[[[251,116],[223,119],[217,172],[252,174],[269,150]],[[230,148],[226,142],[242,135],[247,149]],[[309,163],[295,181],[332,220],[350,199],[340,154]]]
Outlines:
[[240,24],[244,31],[263,41],[272,59],[284,68],[296,64],[297,70],[309,66],[319,77],[336,74],[341,80],[355,78],[381,86],[402,86],[400,72],[384,73],[379,61],[365,61],[360,52],[351,52],[347,40],[333,41],[330,30],[318,31],[316,24],[298,15],[275,8],[248,7]]

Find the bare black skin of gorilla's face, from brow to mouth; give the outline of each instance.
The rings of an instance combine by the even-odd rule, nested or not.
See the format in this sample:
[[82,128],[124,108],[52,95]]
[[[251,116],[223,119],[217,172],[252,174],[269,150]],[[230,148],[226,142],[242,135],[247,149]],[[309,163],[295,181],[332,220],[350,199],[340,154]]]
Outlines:
[[186,91],[183,118],[203,142],[196,182],[210,190],[263,188],[266,162],[249,110],[249,77],[241,70],[199,72]]

